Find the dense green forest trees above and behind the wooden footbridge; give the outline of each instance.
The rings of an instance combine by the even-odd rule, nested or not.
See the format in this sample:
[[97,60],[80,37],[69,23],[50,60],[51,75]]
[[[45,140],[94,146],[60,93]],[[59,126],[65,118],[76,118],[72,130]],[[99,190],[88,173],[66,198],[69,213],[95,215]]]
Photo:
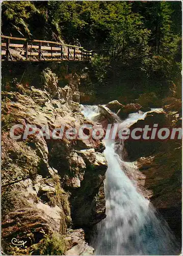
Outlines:
[[100,95],[162,97],[171,81],[180,93],[180,1],[5,1],[2,32],[98,51],[88,86]]

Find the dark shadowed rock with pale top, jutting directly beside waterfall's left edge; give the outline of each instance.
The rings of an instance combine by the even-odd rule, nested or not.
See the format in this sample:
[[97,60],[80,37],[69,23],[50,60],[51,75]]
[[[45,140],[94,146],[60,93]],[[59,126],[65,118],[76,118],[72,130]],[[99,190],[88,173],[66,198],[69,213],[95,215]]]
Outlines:
[[[90,227],[106,217],[103,180],[107,161],[101,153],[90,150],[77,151],[86,163],[80,190],[71,197],[72,220],[75,226]],[[83,213],[82,213],[83,212]]]

